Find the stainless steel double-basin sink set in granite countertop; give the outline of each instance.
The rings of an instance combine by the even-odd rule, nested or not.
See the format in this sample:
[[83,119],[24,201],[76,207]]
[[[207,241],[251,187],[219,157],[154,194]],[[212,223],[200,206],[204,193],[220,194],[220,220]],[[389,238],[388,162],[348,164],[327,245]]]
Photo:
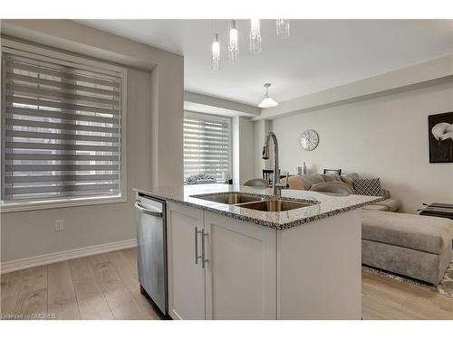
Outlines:
[[226,203],[237,207],[262,212],[284,212],[312,206],[315,202],[294,202],[284,199],[270,199],[269,196],[255,196],[242,193],[219,193],[217,195],[192,195],[193,198],[209,202]]

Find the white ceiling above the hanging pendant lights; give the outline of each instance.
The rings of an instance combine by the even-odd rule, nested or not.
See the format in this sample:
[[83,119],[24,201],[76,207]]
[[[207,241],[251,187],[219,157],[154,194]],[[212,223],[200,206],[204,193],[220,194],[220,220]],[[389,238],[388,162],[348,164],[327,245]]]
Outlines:
[[[227,62],[229,20],[78,20],[103,31],[184,55],[188,91],[257,105],[263,84],[277,101],[333,88],[453,53],[453,20],[291,20],[279,40],[261,21],[263,52],[248,52],[247,20],[237,20],[240,61]],[[222,67],[210,70],[217,25]]]

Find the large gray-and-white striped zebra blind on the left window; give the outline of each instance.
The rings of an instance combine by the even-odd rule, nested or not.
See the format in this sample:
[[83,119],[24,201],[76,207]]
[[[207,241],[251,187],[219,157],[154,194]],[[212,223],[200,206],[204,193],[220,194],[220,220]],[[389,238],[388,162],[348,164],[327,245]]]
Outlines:
[[3,55],[4,202],[120,193],[121,78]]

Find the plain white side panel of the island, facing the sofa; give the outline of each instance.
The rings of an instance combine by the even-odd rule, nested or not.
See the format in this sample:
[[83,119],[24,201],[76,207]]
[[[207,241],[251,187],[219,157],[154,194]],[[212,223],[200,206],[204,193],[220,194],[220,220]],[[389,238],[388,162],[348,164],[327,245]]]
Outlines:
[[279,319],[361,319],[361,210],[278,231]]

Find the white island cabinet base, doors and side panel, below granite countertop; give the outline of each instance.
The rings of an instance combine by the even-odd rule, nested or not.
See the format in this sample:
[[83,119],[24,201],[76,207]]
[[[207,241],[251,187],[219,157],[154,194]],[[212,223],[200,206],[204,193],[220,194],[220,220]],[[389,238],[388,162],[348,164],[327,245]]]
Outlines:
[[361,319],[360,210],[277,231],[168,202],[167,221],[173,319]]

